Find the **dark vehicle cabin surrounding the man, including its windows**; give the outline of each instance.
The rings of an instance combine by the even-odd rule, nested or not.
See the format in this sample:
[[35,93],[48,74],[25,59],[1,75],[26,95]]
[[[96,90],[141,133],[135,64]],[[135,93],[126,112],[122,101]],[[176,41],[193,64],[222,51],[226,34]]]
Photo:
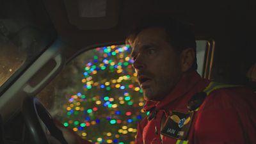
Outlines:
[[0,143],[134,143],[148,115],[125,38],[166,15],[195,32],[198,73],[256,91],[256,2],[1,0]]

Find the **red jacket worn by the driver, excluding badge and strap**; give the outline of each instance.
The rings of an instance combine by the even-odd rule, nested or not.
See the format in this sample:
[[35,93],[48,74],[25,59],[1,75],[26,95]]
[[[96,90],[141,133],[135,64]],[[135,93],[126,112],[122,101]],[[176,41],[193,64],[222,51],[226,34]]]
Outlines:
[[[155,107],[156,118],[138,124],[136,143],[168,143],[177,140],[160,134],[161,118],[170,111],[188,112],[186,107],[195,93],[209,84],[196,72],[182,77],[170,95],[161,102],[147,101],[144,109]],[[195,112],[188,133],[189,144],[256,144],[256,93],[245,87],[221,88],[208,95]]]

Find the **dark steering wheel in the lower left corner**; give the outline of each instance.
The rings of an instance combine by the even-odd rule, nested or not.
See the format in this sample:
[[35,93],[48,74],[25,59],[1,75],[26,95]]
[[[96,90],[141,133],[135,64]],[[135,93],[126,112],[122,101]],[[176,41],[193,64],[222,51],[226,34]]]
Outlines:
[[51,133],[51,136],[56,138],[61,144],[68,144],[63,137],[62,131],[56,127],[52,116],[47,109],[41,104],[41,102],[35,97],[26,97],[23,101],[22,115],[26,127],[33,142],[36,144],[49,144],[47,136],[43,131],[43,127],[40,124],[40,120],[44,122],[47,129]]

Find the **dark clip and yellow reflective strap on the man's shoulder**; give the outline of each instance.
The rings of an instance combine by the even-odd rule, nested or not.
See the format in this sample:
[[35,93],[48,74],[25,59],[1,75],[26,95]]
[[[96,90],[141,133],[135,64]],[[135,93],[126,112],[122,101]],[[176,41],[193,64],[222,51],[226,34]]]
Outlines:
[[220,88],[231,88],[236,87],[237,85],[231,84],[223,84],[218,82],[211,82],[209,85],[204,89],[203,92],[196,93],[188,102],[188,109],[189,111],[198,111],[201,104],[204,102],[205,97],[209,95],[214,90],[218,90]]

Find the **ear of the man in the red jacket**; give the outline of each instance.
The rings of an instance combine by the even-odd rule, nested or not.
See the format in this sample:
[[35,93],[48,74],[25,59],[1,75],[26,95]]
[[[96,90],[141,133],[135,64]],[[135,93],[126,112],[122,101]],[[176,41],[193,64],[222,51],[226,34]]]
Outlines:
[[195,61],[195,51],[192,48],[184,49],[180,54],[181,71],[188,71]]

